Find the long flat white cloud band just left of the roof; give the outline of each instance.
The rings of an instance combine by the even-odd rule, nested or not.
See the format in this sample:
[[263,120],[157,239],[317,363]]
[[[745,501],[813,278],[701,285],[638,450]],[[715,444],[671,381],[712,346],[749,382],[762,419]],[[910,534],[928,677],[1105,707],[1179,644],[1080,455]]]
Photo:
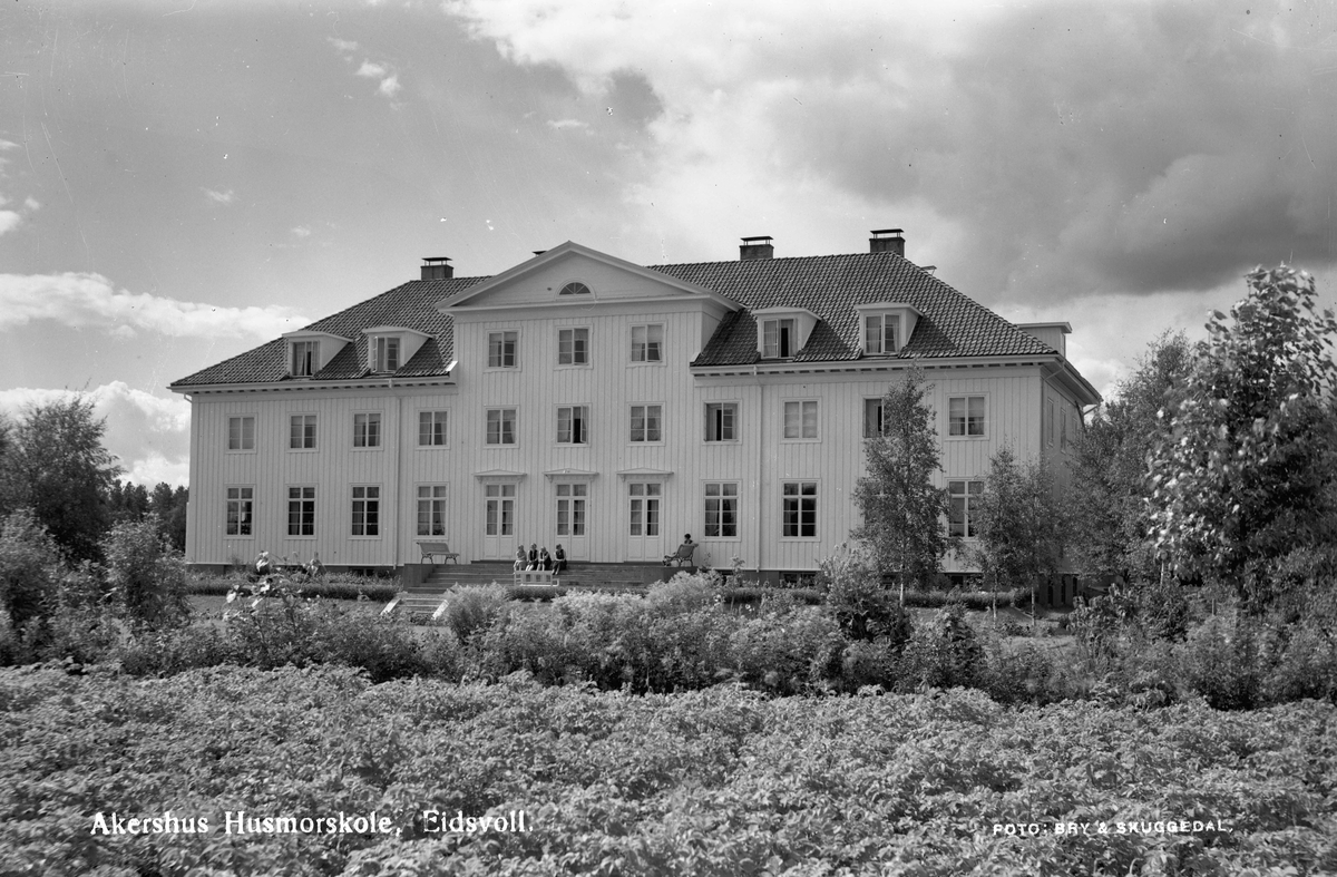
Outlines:
[[118,290],[100,274],[0,274],[0,330],[51,320],[119,337],[261,338],[310,322],[291,307],[223,307]]

